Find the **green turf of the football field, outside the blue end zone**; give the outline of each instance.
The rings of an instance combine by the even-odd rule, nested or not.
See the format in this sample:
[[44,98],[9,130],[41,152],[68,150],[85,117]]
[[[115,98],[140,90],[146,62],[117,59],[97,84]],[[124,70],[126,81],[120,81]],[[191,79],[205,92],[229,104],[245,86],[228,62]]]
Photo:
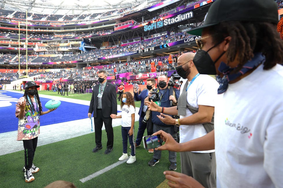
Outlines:
[[[57,92],[40,91],[40,94],[59,96]],[[64,96],[90,101],[91,94]],[[118,104],[120,102],[118,101]],[[136,107],[140,102],[136,102]],[[135,122],[135,136],[139,123]],[[105,155],[106,132],[102,132],[103,149],[92,153],[95,147],[94,133],[42,145],[37,147],[33,163],[40,168],[34,174],[35,180],[25,183],[22,172],[24,151],[0,156],[1,187],[45,187],[57,180],[70,181],[77,187],[168,187],[163,171],[169,170],[168,151],[162,151],[161,160],[155,166],[148,166],[153,154],[136,148],[137,161],[133,164],[118,164],[122,155],[121,126],[113,127],[113,151]],[[145,131],[146,132],[146,131]],[[39,138],[40,139],[40,138]],[[128,152],[131,149],[128,144]],[[177,172],[180,172],[180,155],[177,153]],[[89,177],[93,175],[92,177]],[[87,178],[88,177],[88,178]],[[82,183],[80,180],[87,178]]]

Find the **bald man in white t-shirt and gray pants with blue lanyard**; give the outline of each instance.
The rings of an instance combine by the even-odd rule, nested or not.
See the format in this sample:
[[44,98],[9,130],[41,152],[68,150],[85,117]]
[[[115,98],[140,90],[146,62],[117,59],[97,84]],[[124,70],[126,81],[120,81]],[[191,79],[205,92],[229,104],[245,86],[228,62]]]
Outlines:
[[[178,110],[176,107],[162,109],[153,103],[147,103],[150,104],[149,108],[152,111],[157,110],[164,114],[180,115],[180,119],[173,119],[167,115],[159,117],[165,124],[180,126],[180,143],[207,134],[203,124],[213,121],[215,99],[219,87],[214,78],[198,73],[193,63],[194,56],[194,53],[184,53],[177,60],[176,71],[182,78],[186,79],[180,89]],[[187,103],[197,112],[193,114],[187,108]],[[179,104],[183,104],[183,107]],[[198,180],[204,187],[216,187],[214,150],[180,152],[180,157],[183,174]]]

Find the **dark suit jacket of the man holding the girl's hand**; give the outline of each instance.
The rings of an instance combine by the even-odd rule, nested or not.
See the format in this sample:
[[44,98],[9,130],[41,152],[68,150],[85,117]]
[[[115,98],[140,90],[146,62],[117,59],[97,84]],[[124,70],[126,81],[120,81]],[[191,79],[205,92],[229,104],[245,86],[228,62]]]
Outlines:
[[[96,84],[93,87],[92,97],[90,101],[90,108],[88,109],[88,113],[93,112],[94,118],[96,118],[96,105],[97,105],[97,95],[98,95],[99,85],[100,84]],[[117,114],[116,98],[117,98],[116,87],[113,84],[106,82],[101,98],[103,117],[109,118],[111,114]]]

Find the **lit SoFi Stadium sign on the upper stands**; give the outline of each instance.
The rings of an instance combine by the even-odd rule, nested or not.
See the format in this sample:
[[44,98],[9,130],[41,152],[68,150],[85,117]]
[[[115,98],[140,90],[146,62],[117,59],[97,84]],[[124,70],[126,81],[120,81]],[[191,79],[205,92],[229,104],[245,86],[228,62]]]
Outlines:
[[144,26],[144,31],[150,31],[150,30],[153,30],[153,29],[161,28],[163,26],[167,26],[167,25],[171,25],[171,24],[174,24],[174,23],[177,23],[177,22],[181,22],[183,20],[187,20],[187,19],[192,18],[192,17],[193,17],[192,11],[187,12],[185,14],[179,14],[178,16],[175,16],[173,18],[167,18],[167,19],[164,19],[164,20],[161,20],[161,21],[154,22],[150,25],[146,25],[146,26]]

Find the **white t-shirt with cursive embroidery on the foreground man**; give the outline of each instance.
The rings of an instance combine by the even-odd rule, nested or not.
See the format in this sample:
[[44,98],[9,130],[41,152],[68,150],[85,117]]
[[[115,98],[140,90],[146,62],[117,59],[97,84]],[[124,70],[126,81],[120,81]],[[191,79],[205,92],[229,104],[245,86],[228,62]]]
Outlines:
[[260,65],[218,97],[217,188],[283,187],[283,67]]

